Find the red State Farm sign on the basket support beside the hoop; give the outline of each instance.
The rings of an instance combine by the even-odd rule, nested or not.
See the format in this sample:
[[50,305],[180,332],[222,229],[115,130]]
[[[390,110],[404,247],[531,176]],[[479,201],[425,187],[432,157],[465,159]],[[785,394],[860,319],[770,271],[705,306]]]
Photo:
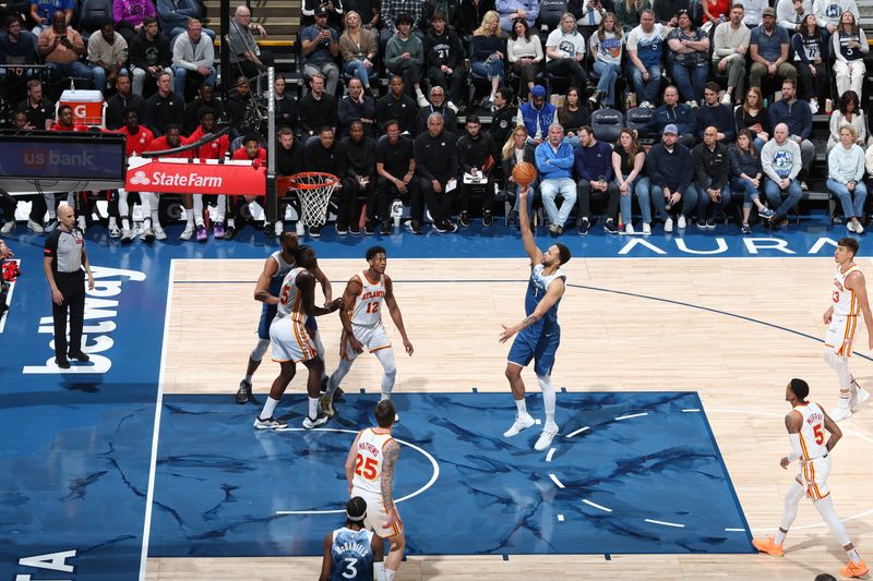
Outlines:
[[177,158],[128,159],[128,192],[158,194],[227,194],[262,196],[266,193],[266,168],[249,161]]

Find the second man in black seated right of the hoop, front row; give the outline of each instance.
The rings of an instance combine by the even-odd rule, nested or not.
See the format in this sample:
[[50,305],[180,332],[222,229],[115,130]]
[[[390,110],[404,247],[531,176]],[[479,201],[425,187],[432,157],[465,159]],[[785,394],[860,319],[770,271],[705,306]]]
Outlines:
[[[412,140],[400,135],[400,124],[394,120],[385,123],[385,135],[380,137],[375,146],[376,205],[367,204],[367,227],[374,227],[375,220],[382,221],[382,233],[391,233],[388,216],[388,196],[418,197],[418,180],[416,179],[416,159],[412,152]],[[407,196],[407,194],[409,194]],[[414,234],[421,233],[421,222],[410,223]]]

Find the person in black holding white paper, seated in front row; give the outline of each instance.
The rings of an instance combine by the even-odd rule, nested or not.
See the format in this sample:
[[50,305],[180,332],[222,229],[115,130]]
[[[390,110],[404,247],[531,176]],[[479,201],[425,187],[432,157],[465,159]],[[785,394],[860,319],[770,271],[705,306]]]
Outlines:
[[479,118],[475,114],[467,116],[465,121],[467,130],[457,141],[457,162],[461,174],[461,226],[470,225],[470,197],[473,193],[482,192],[482,226],[488,228],[493,223],[492,209],[494,206],[494,182],[491,170],[500,157],[491,135],[482,132]]

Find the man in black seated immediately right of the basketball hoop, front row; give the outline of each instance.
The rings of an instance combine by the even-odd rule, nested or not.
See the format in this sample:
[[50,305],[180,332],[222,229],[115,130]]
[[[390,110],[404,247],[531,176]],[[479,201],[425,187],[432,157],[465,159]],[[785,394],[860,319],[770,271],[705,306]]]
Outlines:
[[[354,121],[348,137],[339,142],[339,150],[346,173],[336,214],[336,233],[360,234],[358,196],[366,196],[368,208],[375,205],[375,140],[363,134],[363,123]],[[373,233],[372,227],[367,233]]]

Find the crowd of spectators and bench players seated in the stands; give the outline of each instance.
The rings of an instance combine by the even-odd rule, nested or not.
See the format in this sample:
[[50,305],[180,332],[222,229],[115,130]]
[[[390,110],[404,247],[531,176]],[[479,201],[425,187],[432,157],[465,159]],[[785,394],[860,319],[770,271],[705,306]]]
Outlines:
[[[83,129],[69,108],[56,118],[58,87],[73,78],[104,93],[106,129],[128,136],[128,154],[192,144],[226,122],[229,137],[177,155],[266,158],[267,124],[253,107],[265,96],[249,78],[274,57],[255,41],[267,31],[249,8],[231,19],[224,99],[214,33],[195,0],[115,0],[112,19],[89,31],[73,25],[73,8],[5,5],[4,96],[26,83],[13,129]],[[552,235],[571,223],[588,233],[593,207],[610,233],[714,229],[732,204],[744,233],[755,216],[779,228],[806,189],[818,112],[830,114],[829,133],[815,136],[827,144],[827,189],[849,230],[863,231],[873,150],[864,150],[869,47],[854,0],[306,0],[302,15],[302,97],[291,76],[272,87],[277,172],[336,175],[340,234],[359,232],[363,204],[366,233],[390,232],[393,198],[409,204],[414,233],[428,215],[438,232],[479,217],[490,227],[495,199],[516,197],[512,169],[522,161],[538,169],[528,201],[542,206]],[[28,68],[38,64],[47,73]],[[51,225],[49,197],[34,199],[33,230],[46,211]],[[87,209],[96,196],[69,197]],[[140,198],[142,239],[166,238],[156,196]],[[182,196],[186,240],[208,238],[202,198]],[[219,196],[213,234],[232,238],[251,202]],[[3,211],[7,233],[14,221]],[[122,243],[135,234],[129,214],[128,194],[112,194],[108,228]],[[88,211],[80,219],[88,226]]]

